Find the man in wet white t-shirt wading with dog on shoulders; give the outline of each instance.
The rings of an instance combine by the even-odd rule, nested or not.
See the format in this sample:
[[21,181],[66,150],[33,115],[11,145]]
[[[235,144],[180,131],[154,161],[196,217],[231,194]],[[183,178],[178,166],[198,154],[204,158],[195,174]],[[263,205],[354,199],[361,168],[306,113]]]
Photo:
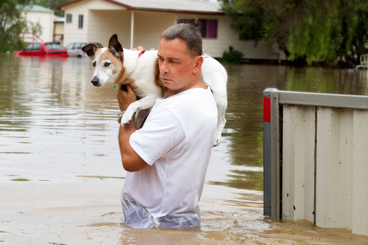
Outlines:
[[[158,58],[167,97],[156,100],[143,127],[134,118],[119,130],[125,177],[121,203],[133,227],[192,227],[200,223],[198,201],[217,124],[217,107],[201,74],[198,28],[177,24],[162,33]],[[137,100],[121,88],[121,111]]]

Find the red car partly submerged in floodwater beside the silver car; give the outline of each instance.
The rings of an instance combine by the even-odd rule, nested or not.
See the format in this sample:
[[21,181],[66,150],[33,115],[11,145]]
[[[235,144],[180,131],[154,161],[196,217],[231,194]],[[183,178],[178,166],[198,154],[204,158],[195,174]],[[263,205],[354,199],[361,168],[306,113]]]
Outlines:
[[20,51],[14,52],[14,55],[32,55],[32,56],[53,56],[68,57],[66,48],[59,42],[39,42],[30,43]]

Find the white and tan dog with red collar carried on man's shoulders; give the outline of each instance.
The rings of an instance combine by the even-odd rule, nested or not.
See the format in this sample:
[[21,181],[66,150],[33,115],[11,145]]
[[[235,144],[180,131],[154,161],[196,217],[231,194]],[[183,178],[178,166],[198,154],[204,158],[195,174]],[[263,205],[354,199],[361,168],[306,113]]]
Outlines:
[[[160,78],[158,51],[145,51],[142,54],[140,51],[125,49],[118,42],[116,34],[110,38],[107,48],[99,48],[96,44],[90,43],[81,50],[92,60],[94,72],[91,83],[93,86],[130,84],[137,95],[137,101],[129,105],[120,123],[127,124],[136,113],[135,125],[139,128],[156,99],[167,95],[167,88],[163,86]],[[226,123],[227,73],[218,61],[204,55],[202,77],[210,87],[217,104],[217,127],[212,145],[215,147],[221,142],[221,133]]]

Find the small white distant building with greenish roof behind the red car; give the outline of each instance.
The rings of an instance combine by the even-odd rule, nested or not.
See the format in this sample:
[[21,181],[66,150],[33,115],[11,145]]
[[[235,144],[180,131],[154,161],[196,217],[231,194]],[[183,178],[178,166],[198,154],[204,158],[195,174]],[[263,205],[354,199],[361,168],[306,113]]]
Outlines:
[[[24,8],[21,10],[21,14],[26,19],[28,25],[28,31],[21,34],[23,42],[32,43],[52,41],[54,11],[42,6],[31,5],[24,6]],[[35,25],[37,23],[39,23],[41,26],[40,35],[32,33],[31,26],[32,24]]]

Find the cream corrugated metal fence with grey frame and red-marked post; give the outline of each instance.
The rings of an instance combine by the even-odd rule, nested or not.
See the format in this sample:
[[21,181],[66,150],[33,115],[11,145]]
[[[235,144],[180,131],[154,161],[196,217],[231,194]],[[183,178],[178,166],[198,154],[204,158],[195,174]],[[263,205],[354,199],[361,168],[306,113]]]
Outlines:
[[263,97],[264,214],[368,235],[368,97]]

